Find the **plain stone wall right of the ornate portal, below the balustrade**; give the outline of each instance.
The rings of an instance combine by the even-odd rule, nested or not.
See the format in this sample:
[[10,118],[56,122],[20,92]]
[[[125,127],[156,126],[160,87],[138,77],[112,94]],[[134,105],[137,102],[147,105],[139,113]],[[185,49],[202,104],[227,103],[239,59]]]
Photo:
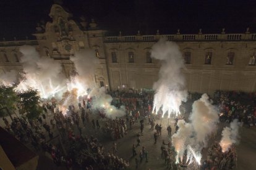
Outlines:
[[[175,40],[174,40],[175,41]],[[236,90],[252,92],[256,89],[256,67],[249,65],[255,54],[255,41],[176,41],[182,54],[190,52],[190,63],[183,70],[190,92]],[[160,63],[146,63],[146,52],[154,42],[106,42],[109,76],[113,88],[128,84],[135,89],[152,87],[158,79]],[[111,52],[116,52],[113,63]],[[134,51],[134,63],[128,62],[129,51]],[[212,52],[211,64],[205,64],[205,55]],[[229,52],[234,52],[232,65],[227,64]],[[256,55],[255,55],[256,56]]]

